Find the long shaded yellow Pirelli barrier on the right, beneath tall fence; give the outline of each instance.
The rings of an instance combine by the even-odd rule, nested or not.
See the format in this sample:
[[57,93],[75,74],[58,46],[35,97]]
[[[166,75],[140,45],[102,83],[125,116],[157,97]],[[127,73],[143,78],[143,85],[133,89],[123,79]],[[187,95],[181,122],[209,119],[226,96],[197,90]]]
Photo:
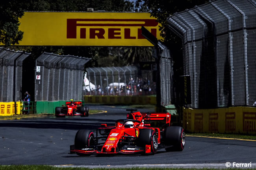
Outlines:
[[256,108],[183,108],[183,127],[195,133],[256,134]]

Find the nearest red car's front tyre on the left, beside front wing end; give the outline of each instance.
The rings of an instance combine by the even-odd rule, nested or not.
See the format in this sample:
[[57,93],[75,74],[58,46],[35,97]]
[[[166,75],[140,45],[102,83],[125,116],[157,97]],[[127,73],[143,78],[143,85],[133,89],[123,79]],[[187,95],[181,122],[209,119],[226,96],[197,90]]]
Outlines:
[[95,144],[94,134],[91,130],[78,130],[75,137],[75,148],[90,148]]

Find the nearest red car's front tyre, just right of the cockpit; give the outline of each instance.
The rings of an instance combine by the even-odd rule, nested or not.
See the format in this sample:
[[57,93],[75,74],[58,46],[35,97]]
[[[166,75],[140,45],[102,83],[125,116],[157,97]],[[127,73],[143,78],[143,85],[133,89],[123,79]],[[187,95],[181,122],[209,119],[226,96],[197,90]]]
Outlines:
[[151,153],[150,154],[156,154],[157,148],[158,148],[158,137],[156,135],[156,132],[152,129],[141,129],[139,131],[139,145],[145,147],[145,145],[151,146]]

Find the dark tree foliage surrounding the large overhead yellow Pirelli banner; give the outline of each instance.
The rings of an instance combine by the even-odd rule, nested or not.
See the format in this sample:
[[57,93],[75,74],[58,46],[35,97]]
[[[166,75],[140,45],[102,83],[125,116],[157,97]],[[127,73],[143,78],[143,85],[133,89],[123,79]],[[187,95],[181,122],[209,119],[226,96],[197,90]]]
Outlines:
[[[86,11],[87,8],[111,12],[147,11],[162,24],[161,34],[165,43],[173,50],[174,57],[181,57],[180,39],[166,27],[166,19],[205,0],[2,0],[0,1],[0,42],[6,48],[31,52],[38,57],[44,51],[63,55],[92,58],[89,66],[125,66],[139,61],[154,60],[151,48],[145,47],[86,47],[86,46],[10,46],[18,44],[23,32],[19,31],[19,18],[24,11]],[[176,62],[176,70],[182,71],[182,61]]]

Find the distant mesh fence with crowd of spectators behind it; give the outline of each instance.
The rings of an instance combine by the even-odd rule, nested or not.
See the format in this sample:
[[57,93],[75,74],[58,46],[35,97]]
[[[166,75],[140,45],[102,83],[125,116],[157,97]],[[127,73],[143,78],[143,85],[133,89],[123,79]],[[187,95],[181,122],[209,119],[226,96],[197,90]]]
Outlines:
[[85,95],[156,94],[153,71],[136,66],[86,68]]

